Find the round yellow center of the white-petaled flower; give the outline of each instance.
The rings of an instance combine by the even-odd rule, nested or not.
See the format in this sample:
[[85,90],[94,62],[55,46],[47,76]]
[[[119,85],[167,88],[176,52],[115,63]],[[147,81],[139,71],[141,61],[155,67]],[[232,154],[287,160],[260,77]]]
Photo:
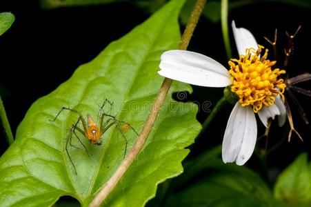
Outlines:
[[267,59],[267,49],[263,57],[259,57],[262,49],[263,46],[259,46],[257,51],[253,48],[246,49],[246,55],[229,61],[231,90],[237,94],[242,106],[252,106],[254,112],[258,112],[263,106],[272,106],[278,94],[284,101],[283,92],[286,87],[284,80],[278,79],[285,70],[273,70],[271,67],[277,61]]

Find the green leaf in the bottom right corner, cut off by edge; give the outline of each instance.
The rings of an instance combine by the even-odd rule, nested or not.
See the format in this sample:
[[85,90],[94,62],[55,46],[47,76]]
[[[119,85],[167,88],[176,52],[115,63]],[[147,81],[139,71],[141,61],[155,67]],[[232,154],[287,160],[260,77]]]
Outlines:
[[311,206],[311,164],[303,153],[286,168],[274,187],[274,197],[291,206]]

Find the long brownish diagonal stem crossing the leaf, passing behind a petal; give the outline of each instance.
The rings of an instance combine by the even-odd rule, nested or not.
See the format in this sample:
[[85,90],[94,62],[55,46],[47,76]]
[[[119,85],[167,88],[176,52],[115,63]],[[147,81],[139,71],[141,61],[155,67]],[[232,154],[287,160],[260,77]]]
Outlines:
[[[199,20],[201,12],[203,11],[205,3],[206,0],[198,0],[196,5],[194,6],[194,10],[192,10],[190,19],[187,23],[185,31],[183,32],[183,36],[181,37],[181,42],[179,44],[180,50],[185,50],[188,47],[194,28],[196,28],[197,26],[197,22]],[[143,148],[143,144],[145,144],[146,139],[148,138],[148,135],[152,129],[152,126],[154,125],[154,122],[157,119],[157,116],[159,115],[159,111],[161,110],[165,97],[168,94],[168,90],[170,89],[171,83],[172,79],[168,78],[164,79],[159,94],[157,95],[157,99],[154,101],[152,110],[145,122],[145,125],[143,126],[143,129],[141,130],[139,137],[137,138],[136,143],[130,150],[128,156],[125,159],[123,159],[121,165],[116,170],[116,172],[114,172],[112,177],[110,177],[110,179],[106,182],[106,184],[103,184],[101,190],[99,190],[99,193],[91,201],[90,206],[101,205],[103,200],[106,199],[108,195],[112,192],[114,187],[117,186],[120,179],[123,177],[126,170],[128,170],[128,168],[131,166],[132,162],[137,157],[137,155],[139,155],[139,152],[141,151],[141,148]]]

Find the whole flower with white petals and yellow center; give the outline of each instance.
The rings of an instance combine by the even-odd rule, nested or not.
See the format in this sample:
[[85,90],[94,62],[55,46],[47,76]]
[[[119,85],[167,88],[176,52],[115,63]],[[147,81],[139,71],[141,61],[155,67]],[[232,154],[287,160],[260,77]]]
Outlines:
[[228,71],[221,63],[197,52],[170,50],[161,56],[159,75],[197,86],[231,86],[239,101],[228,119],[223,137],[223,162],[245,164],[257,139],[255,113],[264,126],[268,119],[279,116],[279,125],[285,122],[285,106],[281,98],[285,84],[278,76],[285,73],[276,68],[275,61],[267,59],[268,50],[260,57],[262,46],[257,45],[252,33],[245,28],[236,28],[232,21],[234,40],[239,59],[229,61]]

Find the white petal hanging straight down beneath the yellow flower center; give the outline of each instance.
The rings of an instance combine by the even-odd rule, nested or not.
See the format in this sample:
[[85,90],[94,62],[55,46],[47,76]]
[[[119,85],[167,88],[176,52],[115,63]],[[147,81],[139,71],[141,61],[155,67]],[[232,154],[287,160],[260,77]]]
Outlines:
[[256,139],[257,125],[252,108],[243,107],[237,102],[223,136],[223,162],[236,161],[238,165],[245,164],[254,151]]

